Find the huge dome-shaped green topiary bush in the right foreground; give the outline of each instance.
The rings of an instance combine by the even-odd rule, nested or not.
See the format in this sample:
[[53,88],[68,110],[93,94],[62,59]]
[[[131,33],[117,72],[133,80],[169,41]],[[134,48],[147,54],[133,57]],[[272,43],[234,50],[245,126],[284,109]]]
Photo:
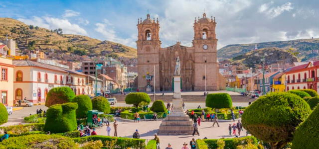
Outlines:
[[305,121],[311,109],[301,97],[273,92],[259,97],[242,116],[243,127],[253,136],[282,149],[292,141],[296,127]]

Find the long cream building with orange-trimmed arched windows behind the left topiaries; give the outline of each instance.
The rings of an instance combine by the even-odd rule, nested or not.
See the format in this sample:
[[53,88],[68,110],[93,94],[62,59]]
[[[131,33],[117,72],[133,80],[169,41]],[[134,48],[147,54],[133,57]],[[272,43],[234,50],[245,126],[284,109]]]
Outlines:
[[44,103],[49,90],[60,86],[70,87],[76,95],[87,94],[85,74],[44,62],[13,60],[15,101],[25,97],[33,103]]

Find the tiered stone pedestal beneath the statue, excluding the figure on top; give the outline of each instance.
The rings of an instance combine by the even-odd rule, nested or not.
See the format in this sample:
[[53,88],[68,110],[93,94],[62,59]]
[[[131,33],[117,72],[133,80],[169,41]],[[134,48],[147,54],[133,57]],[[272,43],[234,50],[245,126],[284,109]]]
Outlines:
[[193,122],[182,109],[182,98],[180,94],[180,76],[174,76],[174,95],[172,110],[160,124],[158,134],[161,135],[192,135]]

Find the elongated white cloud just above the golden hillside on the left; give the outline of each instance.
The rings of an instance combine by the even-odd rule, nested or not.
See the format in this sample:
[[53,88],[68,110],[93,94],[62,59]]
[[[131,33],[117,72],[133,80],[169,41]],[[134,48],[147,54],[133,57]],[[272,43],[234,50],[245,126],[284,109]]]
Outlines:
[[85,29],[81,28],[78,24],[72,24],[67,19],[60,19],[60,18],[54,18],[54,17],[37,17],[33,16],[32,19],[23,19],[18,18],[18,20],[30,24],[35,25],[47,29],[57,29],[62,28],[64,34],[80,34],[80,35],[87,35],[87,32]]

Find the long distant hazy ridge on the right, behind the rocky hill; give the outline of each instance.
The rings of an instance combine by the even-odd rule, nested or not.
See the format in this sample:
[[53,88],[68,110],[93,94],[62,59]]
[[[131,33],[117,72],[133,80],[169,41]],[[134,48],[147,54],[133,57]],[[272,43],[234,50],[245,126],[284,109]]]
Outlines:
[[[257,44],[258,49],[267,48],[267,47],[277,47],[280,49],[295,48],[300,53],[298,57],[302,61],[306,61],[309,58],[318,56],[318,50],[319,50],[318,38],[263,42],[263,43],[253,43],[253,44],[236,44],[236,45],[227,45],[219,49],[217,51],[218,60],[231,59],[236,56],[240,56],[247,52],[250,52],[255,49],[255,44]],[[312,50],[314,50],[315,53],[312,53]]]

